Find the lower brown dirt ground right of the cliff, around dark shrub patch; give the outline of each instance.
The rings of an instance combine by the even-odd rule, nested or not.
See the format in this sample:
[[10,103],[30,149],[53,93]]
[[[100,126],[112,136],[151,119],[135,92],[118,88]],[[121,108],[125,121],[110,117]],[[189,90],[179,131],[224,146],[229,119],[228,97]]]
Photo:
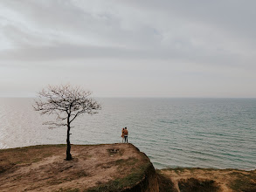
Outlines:
[[189,181],[190,178],[201,182],[213,181],[218,186],[218,191],[256,192],[256,170],[174,168],[158,170],[158,172],[168,177],[178,192],[180,191],[179,182]]

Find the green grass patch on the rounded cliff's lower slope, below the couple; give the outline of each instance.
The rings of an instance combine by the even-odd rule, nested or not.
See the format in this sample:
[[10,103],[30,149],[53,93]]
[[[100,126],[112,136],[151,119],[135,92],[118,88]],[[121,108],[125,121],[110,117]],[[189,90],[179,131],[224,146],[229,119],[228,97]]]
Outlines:
[[145,170],[149,168],[149,166],[150,164],[146,163],[142,167],[136,168],[136,171],[124,178],[117,178],[114,181],[100,184],[94,188],[87,189],[86,192],[114,192],[120,191],[121,189],[130,188],[134,186],[135,183],[142,181]]

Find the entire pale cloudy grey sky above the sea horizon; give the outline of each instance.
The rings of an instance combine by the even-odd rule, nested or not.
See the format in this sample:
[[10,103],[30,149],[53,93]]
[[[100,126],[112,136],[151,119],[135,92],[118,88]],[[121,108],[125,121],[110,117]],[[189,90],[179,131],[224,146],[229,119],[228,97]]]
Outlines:
[[256,97],[256,1],[0,0],[0,96]]

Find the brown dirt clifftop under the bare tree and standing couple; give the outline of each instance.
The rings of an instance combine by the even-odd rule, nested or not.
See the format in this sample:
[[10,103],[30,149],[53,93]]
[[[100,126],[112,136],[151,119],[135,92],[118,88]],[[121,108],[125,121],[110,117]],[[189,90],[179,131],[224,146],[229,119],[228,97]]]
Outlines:
[[0,191],[75,191],[122,178],[142,166],[145,155],[131,144],[65,145],[0,150]]

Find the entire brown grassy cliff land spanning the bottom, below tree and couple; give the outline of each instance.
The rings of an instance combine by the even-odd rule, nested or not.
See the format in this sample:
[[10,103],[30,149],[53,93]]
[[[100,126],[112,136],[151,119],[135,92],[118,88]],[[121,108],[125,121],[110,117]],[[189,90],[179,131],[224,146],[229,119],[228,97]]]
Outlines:
[[232,192],[256,191],[256,170],[155,170],[132,144],[66,145],[0,150],[0,191]]

